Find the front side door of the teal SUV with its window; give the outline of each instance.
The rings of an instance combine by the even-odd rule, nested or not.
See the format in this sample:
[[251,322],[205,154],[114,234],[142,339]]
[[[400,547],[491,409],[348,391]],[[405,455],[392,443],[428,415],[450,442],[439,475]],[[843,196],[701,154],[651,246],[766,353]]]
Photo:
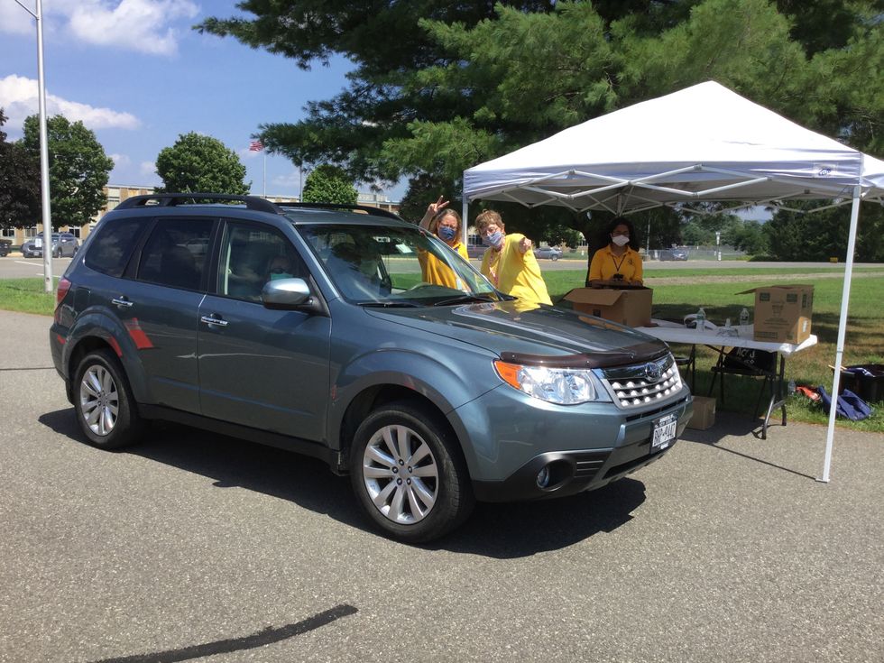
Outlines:
[[[272,310],[263,284],[308,272],[278,229],[227,221],[215,292],[199,307],[200,406],[207,417],[321,441],[328,401],[331,320]],[[210,289],[212,290],[212,289]]]

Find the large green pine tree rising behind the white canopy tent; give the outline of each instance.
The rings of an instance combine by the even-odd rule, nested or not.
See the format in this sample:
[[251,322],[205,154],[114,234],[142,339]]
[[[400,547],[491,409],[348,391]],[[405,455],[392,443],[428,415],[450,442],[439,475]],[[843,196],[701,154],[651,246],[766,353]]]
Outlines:
[[[296,164],[334,163],[352,180],[406,176],[421,191],[459,191],[463,170],[480,161],[710,78],[884,152],[880,0],[522,2],[493,12],[478,0],[238,6],[255,19],[212,19],[199,29],[304,68],[332,53],[356,63],[350,86],[310,103],[304,120],[260,127],[274,152]],[[611,217],[539,209],[514,208],[508,227],[543,236],[564,224],[589,238]],[[677,213],[654,218],[654,228],[666,228],[660,239],[671,239]]]

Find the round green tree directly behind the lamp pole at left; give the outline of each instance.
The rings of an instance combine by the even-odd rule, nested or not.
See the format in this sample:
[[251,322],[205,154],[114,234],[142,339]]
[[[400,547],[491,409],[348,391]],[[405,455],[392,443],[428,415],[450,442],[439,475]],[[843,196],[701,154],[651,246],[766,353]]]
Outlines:
[[[106,155],[95,133],[80,121],[70,122],[64,115],[55,115],[46,120],[46,134],[52,227],[83,226],[105,207],[104,188],[114,161]],[[22,144],[39,159],[37,115],[25,118]]]

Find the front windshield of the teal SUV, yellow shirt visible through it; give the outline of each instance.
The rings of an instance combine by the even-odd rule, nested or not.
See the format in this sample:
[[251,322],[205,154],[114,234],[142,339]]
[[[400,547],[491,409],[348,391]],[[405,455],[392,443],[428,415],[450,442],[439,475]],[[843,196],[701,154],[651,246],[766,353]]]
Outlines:
[[345,299],[363,306],[449,306],[509,299],[417,226],[297,226]]

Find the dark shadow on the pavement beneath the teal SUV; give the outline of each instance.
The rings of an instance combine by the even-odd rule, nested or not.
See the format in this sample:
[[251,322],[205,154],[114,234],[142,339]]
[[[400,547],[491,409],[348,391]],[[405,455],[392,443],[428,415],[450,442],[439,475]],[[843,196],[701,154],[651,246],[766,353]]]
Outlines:
[[[87,445],[72,408],[47,412],[39,421]],[[142,443],[115,453],[141,456],[206,476],[217,488],[241,487],[288,500],[347,526],[376,533],[360,511],[349,478],[333,474],[325,463],[309,456],[165,422],[152,423]],[[631,520],[631,511],[644,499],[644,484],[625,478],[561,499],[479,503],[460,529],[421,548],[526,557],[566,548],[600,531],[612,531]]]

